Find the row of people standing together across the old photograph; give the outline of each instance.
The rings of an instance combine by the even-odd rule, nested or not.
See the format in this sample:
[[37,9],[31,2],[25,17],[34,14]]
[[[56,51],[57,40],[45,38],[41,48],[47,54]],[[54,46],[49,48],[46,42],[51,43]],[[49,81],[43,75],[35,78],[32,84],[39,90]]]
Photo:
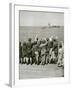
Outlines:
[[64,66],[64,44],[56,37],[19,42],[19,63]]

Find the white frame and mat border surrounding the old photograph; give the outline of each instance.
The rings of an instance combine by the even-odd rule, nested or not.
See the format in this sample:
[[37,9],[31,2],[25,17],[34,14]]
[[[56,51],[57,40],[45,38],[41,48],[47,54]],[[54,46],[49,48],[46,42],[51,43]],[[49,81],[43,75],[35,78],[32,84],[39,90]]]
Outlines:
[[[19,10],[30,11],[50,11],[64,12],[64,78],[42,78],[19,80]],[[12,5],[12,83],[11,86],[32,86],[32,85],[47,85],[55,83],[68,83],[69,80],[69,48],[68,48],[68,32],[69,30],[69,9],[67,7],[42,7],[42,6],[26,6],[13,4]],[[15,61],[14,61],[15,60]],[[33,83],[31,83],[33,82]]]

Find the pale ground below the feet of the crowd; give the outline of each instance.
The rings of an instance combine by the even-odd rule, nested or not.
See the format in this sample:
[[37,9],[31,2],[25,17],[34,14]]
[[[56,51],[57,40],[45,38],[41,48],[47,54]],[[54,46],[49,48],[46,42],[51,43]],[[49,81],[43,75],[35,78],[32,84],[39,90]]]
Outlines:
[[64,77],[64,69],[56,64],[19,64],[19,79]]

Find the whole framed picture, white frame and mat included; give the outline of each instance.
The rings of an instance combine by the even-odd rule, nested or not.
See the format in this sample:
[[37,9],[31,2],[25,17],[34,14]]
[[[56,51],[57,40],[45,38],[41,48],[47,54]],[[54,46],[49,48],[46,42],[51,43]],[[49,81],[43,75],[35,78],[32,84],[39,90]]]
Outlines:
[[9,6],[10,86],[68,83],[69,8]]

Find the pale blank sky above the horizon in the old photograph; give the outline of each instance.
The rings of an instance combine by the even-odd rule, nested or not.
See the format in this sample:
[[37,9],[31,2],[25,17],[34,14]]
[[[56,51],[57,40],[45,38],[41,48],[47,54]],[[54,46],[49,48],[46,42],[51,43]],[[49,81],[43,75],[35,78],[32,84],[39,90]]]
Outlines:
[[20,26],[64,26],[63,12],[19,11]]

